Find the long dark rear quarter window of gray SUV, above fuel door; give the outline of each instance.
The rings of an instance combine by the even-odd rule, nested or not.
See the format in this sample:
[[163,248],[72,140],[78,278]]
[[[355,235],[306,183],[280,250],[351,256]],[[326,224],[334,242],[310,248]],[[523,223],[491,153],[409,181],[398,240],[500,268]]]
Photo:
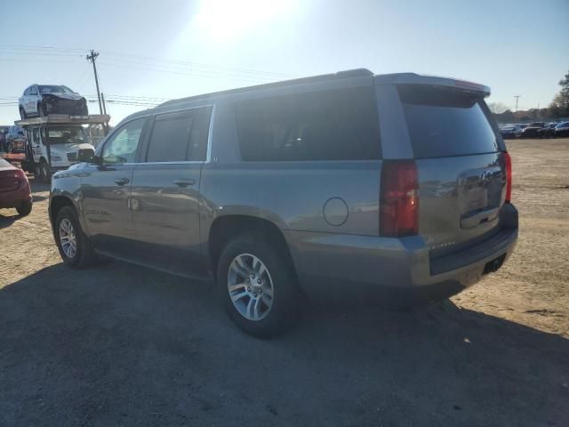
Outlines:
[[236,105],[245,161],[380,158],[373,86],[300,93]]

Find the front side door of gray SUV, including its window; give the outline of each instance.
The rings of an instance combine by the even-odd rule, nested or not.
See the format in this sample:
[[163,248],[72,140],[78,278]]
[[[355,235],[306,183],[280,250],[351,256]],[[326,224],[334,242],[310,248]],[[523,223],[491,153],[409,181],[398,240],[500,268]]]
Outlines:
[[101,165],[89,165],[81,181],[81,209],[85,231],[99,249],[116,255],[135,238],[130,195],[134,160],[146,118],[117,128],[99,151]]

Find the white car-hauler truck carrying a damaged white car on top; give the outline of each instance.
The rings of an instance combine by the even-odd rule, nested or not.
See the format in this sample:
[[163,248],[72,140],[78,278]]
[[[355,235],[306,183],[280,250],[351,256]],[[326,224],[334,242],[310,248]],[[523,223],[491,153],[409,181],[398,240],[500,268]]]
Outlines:
[[28,134],[25,159],[22,168],[49,182],[52,173],[67,169],[78,163],[79,151],[94,147],[85,133],[84,125],[101,125],[108,129],[110,117],[106,114],[91,116],[69,116],[52,114],[46,117],[17,120]]

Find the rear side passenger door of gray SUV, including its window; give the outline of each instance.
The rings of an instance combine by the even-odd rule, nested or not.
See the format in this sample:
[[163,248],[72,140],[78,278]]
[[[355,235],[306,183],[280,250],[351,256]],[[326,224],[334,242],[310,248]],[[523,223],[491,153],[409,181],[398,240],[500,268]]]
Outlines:
[[132,177],[137,258],[194,273],[202,265],[199,189],[212,107],[157,114]]

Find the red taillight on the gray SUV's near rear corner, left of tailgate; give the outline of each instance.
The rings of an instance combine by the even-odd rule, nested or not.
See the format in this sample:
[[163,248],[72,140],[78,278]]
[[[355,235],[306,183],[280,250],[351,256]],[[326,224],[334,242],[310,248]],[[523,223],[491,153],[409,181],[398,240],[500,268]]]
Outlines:
[[380,234],[389,238],[419,232],[419,176],[413,160],[385,161],[381,170]]

